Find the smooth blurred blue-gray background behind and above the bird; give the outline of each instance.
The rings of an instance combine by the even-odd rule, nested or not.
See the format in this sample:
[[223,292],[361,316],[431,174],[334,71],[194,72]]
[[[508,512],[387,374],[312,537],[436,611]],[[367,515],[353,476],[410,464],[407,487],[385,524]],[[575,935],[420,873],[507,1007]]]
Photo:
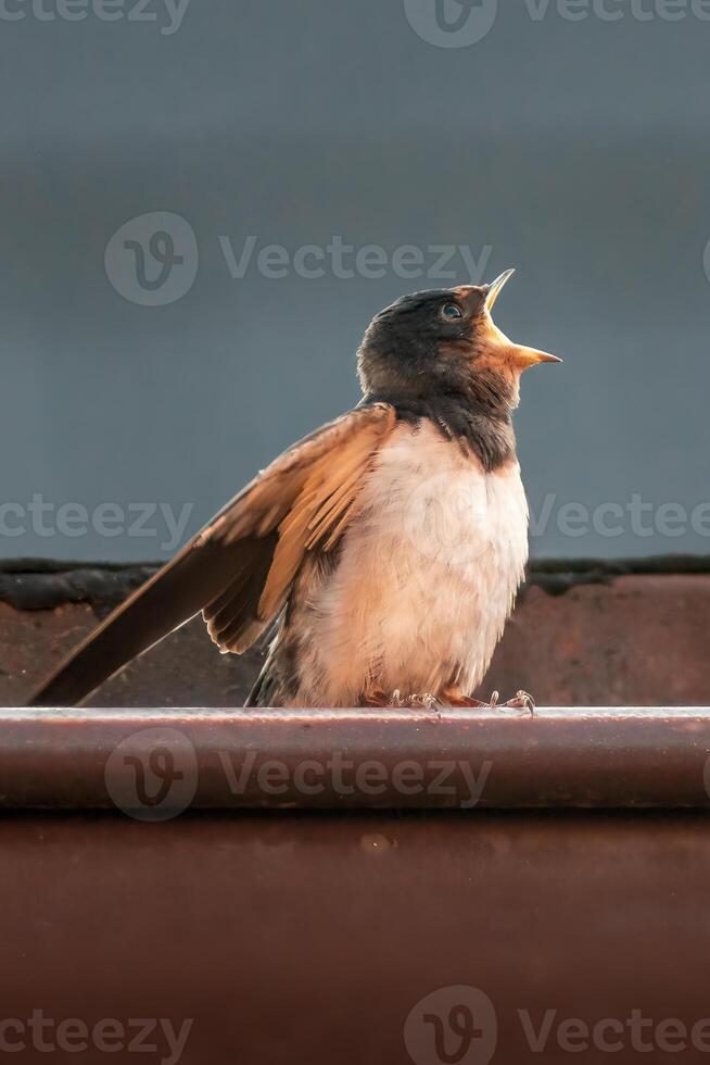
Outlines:
[[[4,0],[2,557],[172,554],[357,401],[373,313],[480,280],[458,252],[451,279],[393,268],[447,245],[517,266],[498,324],[566,360],[516,418],[533,554],[708,552],[710,4],[440,2],[448,30],[434,0],[190,0],[179,25],[165,0]],[[154,212],[178,216],[157,259]],[[384,276],[259,268],[333,235]]]

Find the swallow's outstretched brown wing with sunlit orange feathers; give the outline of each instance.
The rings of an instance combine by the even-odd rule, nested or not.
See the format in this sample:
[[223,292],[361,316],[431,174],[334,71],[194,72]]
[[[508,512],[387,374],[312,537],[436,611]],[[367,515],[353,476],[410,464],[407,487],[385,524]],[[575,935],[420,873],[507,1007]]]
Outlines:
[[201,610],[223,651],[245,651],[283,605],[304,554],[338,542],[394,422],[386,403],[357,408],[284,451],[115,610],[28,705],[81,702]]

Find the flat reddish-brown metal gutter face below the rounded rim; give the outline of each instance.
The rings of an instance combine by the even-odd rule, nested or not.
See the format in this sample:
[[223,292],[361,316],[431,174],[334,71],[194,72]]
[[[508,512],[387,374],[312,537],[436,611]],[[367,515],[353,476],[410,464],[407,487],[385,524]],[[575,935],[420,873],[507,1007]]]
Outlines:
[[[627,1065],[669,1060],[669,1018],[710,1016],[699,812],[30,814],[0,820],[0,849],[1,1017],[24,1025],[4,1032],[23,1065],[173,1062],[164,1020],[192,1022],[180,1065]],[[472,995],[467,1045],[452,1011]],[[62,1019],[113,1018],[126,1049],[144,1018],[154,1049],[41,1052],[35,1011],[50,1043]],[[621,1035],[580,1053],[575,1018]],[[535,1052],[525,1025],[548,1023]],[[708,1060],[686,1044],[673,1061]]]

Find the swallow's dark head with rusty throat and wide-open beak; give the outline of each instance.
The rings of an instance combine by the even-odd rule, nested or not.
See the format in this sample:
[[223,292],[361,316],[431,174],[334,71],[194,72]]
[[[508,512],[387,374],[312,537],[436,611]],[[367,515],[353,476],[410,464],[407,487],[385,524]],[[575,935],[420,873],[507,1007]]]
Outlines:
[[491,317],[515,271],[491,285],[415,292],[381,311],[358,351],[366,394],[431,398],[470,396],[492,408],[517,406],[520,375],[557,355],[514,343]]

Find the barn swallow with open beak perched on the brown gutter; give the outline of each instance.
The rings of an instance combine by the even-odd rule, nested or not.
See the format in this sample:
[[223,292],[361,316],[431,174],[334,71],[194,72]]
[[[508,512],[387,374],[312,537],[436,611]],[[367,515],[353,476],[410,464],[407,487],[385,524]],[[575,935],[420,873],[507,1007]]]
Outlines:
[[200,613],[223,653],[268,641],[246,707],[495,705],[473,692],[528,560],[512,412],[522,373],[561,362],[495,325],[514,273],[378,313],[357,406],[262,471],[28,705],[79,704]]

